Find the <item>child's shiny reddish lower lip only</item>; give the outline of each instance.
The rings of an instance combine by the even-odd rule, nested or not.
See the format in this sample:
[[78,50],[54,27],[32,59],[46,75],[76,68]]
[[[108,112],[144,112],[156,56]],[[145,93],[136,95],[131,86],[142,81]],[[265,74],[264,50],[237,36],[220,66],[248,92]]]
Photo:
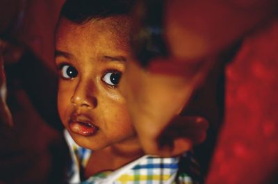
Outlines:
[[94,126],[92,124],[85,124],[81,122],[70,122],[69,126],[70,126],[70,130],[73,133],[77,133],[83,136],[94,135],[99,130],[97,126]]

